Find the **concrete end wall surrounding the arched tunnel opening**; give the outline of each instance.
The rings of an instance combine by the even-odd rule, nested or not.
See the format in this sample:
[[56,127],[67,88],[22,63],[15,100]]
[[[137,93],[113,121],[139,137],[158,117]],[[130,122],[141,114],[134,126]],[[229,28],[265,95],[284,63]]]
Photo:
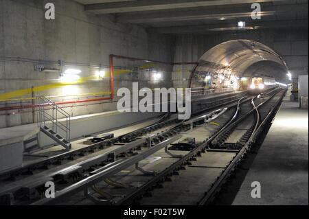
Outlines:
[[[258,30],[252,32],[218,33],[209,35],[183,34],[175,36],[175,62],[196,62],[203,54],[220,43],[236,39],[249,39],[264,43],[286,61],[293,78],[308,75],[308,30]],[[183,78],[190,77],[188,66],[174,67],[172,79],[175,87],[186,86]]]

